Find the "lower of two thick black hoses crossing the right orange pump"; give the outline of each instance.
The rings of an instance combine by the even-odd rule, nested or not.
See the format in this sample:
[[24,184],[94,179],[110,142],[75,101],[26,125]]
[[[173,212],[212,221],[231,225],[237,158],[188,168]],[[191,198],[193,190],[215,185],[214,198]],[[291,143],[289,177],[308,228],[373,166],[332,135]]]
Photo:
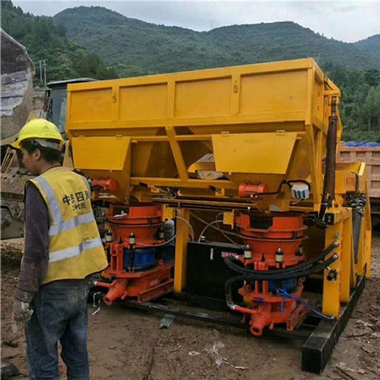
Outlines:
[[236,281],[245,281],[245,280],[251,280],[251,281],[256,281],[256,280],[259,280],[259,281],[288,280],[288,279],[295,278],[295,277],[309,276],[312,273],[317,273],[317,272],[320,272],[320,271],[324,270],[326,267],[328,267],[334,261],[336,261],[338,259],[338,257],[339,256],[337,254],[334,254],[333,256],[331,256],[328,260],[326,260],[322,264],[316,265],[314,268],[311,268],[309,270],[299,271],[296,274],[294,274],[294,273],[285,273],[282,276],[279,276],[279,275],[265,276],[264,274],[261,274],[261,275],[246,274],[246,275],[234,276],[234,277],[231,277],[230,279],[228,279],[226,281],[226,283],[225,283],[225,294],[226,295],[231,295],[231,286]]

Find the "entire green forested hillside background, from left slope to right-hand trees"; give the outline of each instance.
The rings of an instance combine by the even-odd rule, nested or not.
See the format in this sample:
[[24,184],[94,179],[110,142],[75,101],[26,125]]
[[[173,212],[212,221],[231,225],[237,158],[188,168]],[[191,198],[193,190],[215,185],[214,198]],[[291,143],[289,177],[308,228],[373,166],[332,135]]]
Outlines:
[[53,23],[50,17],[24,14],[10,1],[1,3],[2,27],[26,46],[34,62],[48,60],[51,80],[313,57],[342,90],[344,138],[380,141],[380,35],[344,43],[294,22],[196,32],[127,18],[102,7],[66,9]]

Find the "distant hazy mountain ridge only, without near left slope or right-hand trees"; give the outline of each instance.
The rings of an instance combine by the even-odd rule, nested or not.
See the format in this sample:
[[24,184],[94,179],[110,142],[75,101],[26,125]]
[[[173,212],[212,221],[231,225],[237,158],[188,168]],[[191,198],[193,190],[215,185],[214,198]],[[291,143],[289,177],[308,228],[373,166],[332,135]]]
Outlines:
[[[120,75],[154,74],[314,57],[319,64],[380,69],[380,56],[327,39],[294,22],[232,25],[196,32],[127,18],[102,7],[54,16],[67,36],[113,65]],[[380,55],[380,50],[379,50]]]

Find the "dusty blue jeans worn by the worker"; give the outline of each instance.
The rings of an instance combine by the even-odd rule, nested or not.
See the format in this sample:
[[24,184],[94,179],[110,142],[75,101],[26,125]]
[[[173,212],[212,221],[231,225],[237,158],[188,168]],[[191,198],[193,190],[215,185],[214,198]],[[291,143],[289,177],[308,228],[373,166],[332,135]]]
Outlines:
[[59,380],[58,341],[68,380],[88,380],[87,280],[43,285],[31,302],[26,353],[31,380]]

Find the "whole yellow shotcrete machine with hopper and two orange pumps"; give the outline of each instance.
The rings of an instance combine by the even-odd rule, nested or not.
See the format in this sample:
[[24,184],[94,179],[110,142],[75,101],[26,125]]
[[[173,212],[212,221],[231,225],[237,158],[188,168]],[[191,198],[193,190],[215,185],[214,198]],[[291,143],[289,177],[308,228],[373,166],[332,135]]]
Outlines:
[[340,91],[315,61],[67,90],[104,301],[161,310],[151,301],[172,293],[228,309],[184,314],[305,338],[302,368],[320,373],[370,275],[371,221],[365,163],[337,160]]

